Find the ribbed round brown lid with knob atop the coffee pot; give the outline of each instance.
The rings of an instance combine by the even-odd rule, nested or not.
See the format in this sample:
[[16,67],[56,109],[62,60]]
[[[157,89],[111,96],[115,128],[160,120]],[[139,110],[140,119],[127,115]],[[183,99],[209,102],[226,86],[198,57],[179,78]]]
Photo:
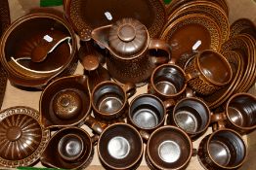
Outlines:
[[109,48],[122,56],[134,55],[146,48],[148,37],[146,26],[139,20],[122,18],[109,30]]

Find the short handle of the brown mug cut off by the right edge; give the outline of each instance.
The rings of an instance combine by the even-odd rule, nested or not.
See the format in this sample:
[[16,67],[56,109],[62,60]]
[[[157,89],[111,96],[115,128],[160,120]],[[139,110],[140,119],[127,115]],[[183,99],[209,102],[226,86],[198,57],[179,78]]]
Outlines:
[[227,119],[226,114],[223,113],[218,113],[218,114],[211,114],[211,123],[213,122],[214,124],[212,125],[213,131],[216,131],[218,129],[223,129],[226,128],[226,123],[225,120]]

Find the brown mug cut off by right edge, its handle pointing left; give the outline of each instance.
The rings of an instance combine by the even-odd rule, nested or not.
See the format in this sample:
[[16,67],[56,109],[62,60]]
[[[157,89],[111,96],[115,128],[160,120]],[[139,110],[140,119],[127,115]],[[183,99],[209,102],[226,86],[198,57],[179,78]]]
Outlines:
[[213,127],[229,127],[240,133],[256,128],[256,97],[249,93],[236,93],[226,103],[223,113],[213,114]]

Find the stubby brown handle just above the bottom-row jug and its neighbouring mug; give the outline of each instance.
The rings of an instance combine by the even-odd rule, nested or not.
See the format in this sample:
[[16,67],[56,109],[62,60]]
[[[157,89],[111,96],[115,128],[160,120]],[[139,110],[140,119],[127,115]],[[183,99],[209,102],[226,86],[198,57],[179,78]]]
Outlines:
[[85,124],[99,135],[102,134],[104,129],[107,127],[106,123],[94,119],[91,115],[86,117]]

